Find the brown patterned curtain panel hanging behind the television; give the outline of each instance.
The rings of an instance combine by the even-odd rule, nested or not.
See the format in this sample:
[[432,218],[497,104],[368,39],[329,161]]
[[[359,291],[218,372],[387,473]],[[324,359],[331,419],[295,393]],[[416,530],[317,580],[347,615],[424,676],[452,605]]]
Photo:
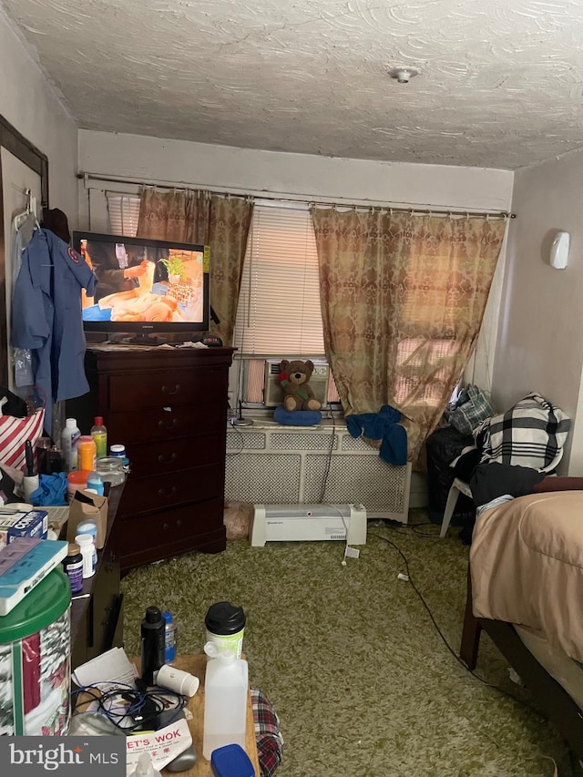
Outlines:
[[220,319],[210,331],[225,345],[233,339],[252,212],[248,199],[209,191],[140,191],[138,237],[210,246],[210,304]]

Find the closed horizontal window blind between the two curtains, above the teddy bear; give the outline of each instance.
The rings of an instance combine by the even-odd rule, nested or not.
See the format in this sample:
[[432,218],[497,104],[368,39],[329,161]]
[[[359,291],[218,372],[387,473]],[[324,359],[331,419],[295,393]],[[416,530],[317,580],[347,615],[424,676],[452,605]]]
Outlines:
[[318,253],[307,208],[255,205],[235,345],[242,355],[323,355]]

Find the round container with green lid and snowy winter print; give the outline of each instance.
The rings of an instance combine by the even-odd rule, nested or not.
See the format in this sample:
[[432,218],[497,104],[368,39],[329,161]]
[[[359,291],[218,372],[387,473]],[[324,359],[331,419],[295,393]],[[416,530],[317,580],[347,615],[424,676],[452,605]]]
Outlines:
[[68,731],[70,604],[69,580],[54,569],[0,618],[0,735]]

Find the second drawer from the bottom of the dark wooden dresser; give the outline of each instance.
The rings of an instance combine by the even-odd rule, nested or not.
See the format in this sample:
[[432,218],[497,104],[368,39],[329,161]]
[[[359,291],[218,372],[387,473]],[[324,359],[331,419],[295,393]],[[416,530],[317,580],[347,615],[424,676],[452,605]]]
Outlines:
[[122,516],[126,516],[222,496],[224,469],[224,464],[220,462],[163,475],[130,475],[119,511]]

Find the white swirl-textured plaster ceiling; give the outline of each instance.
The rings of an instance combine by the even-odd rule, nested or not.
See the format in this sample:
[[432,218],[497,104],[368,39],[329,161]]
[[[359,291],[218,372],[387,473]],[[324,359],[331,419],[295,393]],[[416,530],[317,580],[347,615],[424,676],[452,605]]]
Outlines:
[[0,5],[82,128],[504,169],[583,147],[582,0]]

